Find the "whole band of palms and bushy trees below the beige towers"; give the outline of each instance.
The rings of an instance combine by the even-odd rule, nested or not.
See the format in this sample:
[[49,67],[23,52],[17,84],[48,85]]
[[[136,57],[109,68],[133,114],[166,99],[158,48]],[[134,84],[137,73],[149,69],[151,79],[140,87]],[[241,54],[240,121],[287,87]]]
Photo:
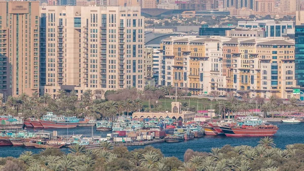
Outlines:
[[[174,95],[172,86],[160,88],[146,86],[144,90],[126,88],[120,90],[85,90],[80,98],[76,91],[66,92],[59,90],[55,98],[48,93],[39,96],[38,93],[31,95],[22,93],[18,96],[0,97],[0,113],[4,115],[24,118],[40,118],[47,112],[57,115],[77,116],[78,118],[105,118],[112,120],[117,115],[128,115],[138,111],[163,111],[157,100],[165,95]],[[179,97],[185,95],[184,90],[177,91]],[[150,106],[143,109],[143,100],[149,100]],[[20,116],[20,115],[19,115]]]

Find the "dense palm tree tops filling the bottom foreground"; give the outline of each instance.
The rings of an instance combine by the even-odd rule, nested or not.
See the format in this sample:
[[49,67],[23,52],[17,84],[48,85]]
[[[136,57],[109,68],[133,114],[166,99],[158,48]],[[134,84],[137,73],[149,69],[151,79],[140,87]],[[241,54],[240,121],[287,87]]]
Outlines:
[[[225,145],[210,153],[188,149],[184,162],[176,157],[164,157],[159,149],[147,146],[128,151],[103,143],[102,148],[86,150],[70,148],[64,154],[59,149],[47,149],[40,154],[23,152],[18,158],[0,158],[0,171],[300,171],[304,167],[304,144],[275,148],[272,138],[263,138],[256,147]],[[174,151],[174,149],[172,149]]]

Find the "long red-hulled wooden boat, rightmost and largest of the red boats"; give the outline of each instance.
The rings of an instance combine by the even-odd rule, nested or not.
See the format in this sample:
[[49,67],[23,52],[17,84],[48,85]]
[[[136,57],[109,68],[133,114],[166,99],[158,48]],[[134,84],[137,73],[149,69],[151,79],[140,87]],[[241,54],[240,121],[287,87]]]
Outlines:
[[225,127],[220,126],[226,136],[242,137],[242,136],[273,136],[278,131],[278,127],[274,125],[258,125],[243,127]]

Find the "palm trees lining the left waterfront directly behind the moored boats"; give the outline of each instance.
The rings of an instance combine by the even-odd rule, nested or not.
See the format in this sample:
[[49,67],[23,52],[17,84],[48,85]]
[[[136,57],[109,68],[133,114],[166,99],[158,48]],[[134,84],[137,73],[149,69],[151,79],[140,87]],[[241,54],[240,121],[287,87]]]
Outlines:
[[140,98],[106,101],[101,98],[94,98],[93,94],[91,90],[86,90],[82,93],[80,100],[75,91],[66,93],[63,90],[57,92],[55,99],[48,93],[42,96],[37,93],[33,93],[31,96],[25,93],[17,97],[8,96],[6,102],[3,101],[3,98],[0,99],[0,113],[13,116],[22,114],[24,118],[40,118],[47,112],[53,112],[57,115],[78,116],[80,118],[92,117],[95,119],[102,117],[111,120],[117,114],[129,114],[143,109],[143,101]]

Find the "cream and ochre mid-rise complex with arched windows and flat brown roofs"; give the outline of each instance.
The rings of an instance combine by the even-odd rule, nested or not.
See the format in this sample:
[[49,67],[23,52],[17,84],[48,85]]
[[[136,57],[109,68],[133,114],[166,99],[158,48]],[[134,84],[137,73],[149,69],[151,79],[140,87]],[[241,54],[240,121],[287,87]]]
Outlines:
[[290,98],[296,87],[294,41],[288,38],[171,37],[161,49],[166,77],[159,84],[192,94]]

